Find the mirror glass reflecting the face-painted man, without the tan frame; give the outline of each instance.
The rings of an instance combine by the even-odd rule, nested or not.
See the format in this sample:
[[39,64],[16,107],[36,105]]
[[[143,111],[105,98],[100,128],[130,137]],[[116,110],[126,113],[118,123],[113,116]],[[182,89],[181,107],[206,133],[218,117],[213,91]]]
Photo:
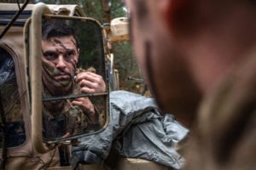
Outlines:
[[102,29],[94,20],[42,20],[45,140],[100,130],[106,122],[107,78]]

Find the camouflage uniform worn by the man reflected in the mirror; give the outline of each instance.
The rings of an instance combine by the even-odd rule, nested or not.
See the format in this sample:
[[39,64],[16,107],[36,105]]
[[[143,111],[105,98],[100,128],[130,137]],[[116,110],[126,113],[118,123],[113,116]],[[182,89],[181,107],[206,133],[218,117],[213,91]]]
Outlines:
[[[79,87],[74,86],[73,94],[79,94]],[[50,97],[46,89],[44,89],[43,96]],[[43,108],[44,137],[61,137],[65,133],[78,134],[83,133],[86,128],[99,127],[99,123],[90,123],[90,118],[86,113],[83,113],[78,105],[72,105],[69,99],[60,102],[63,102],[64,106],[59,112],[50,112],[45,107]],[[97,110],[96,116],[98,118]]]

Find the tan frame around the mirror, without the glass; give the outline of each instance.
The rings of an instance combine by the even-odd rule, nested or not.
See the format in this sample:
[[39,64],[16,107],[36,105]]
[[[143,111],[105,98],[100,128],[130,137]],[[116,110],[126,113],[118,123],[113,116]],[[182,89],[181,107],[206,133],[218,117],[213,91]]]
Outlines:
[[[101,129],[93,133],[82,133],[79,135],[74,135],[71,137],[67,137],[65,139],[58,138],[52,141],[45,141],[43,138],[43,123],[42,123],[42,50],[41,50],[41,37],[42,37],[42,18],[49,17],[49,18],[58,18],[58,19],[65,19],[65,20],[90,20],[95,22],[98,26],[101,27],[102,30],[102,47],[104,53],[104,61],[105,61],[105,77],[106,77],[106,122]],[[93,135],[96,133],[102,132],[106,127],[108,127],[109,123],[109,91],[108,91],[108,66],[106,61],[106,40],[105,40],[105,32],[103,30],[102,25],[95,19],[90,17],[79,17],[79,16],[67,16],[67,15],[55,15],[52,14],[47,5],[44,3],[37,3],[32,10],[32,18],[31,20],[27,21],[27,24],[30,26],[28,27],[30,30],[25,31],[28,32],[27,36],[29,38],[29,45],[26,47],[26,54],[28,54],[28,65],[29,65],[29,87],[30,87],[30,101],[31,101],[31,113],[32,113],[32,144],[34,145],[35,149],[39,153],[45,153],[55,147],[57,143],[63,144],[77,144],[78,138]],[[27,38],[27,40],[28,40]],[[39,132],[39,133],[38,133]]]

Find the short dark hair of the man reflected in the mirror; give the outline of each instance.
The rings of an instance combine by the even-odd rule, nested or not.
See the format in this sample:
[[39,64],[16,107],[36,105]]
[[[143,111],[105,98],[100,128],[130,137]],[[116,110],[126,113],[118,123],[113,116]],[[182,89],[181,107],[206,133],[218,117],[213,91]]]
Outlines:
[[71,26],[65,23],[65,20],[43,20],[42,39],[47,40],[50,37],[73,36],[76,46],[79,48],[79,40]]

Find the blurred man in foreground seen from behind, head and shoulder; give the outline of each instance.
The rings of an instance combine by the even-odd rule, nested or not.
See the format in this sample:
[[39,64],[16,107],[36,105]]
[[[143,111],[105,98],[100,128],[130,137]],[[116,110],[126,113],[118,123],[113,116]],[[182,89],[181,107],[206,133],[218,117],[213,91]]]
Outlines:
[[137,61],[160,108],[196,117],[187,168],[255,168],[256,3],[125,4]]

